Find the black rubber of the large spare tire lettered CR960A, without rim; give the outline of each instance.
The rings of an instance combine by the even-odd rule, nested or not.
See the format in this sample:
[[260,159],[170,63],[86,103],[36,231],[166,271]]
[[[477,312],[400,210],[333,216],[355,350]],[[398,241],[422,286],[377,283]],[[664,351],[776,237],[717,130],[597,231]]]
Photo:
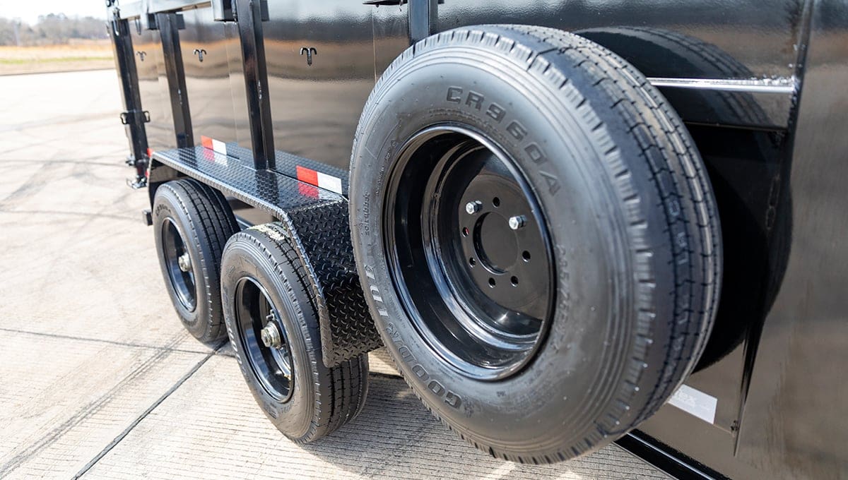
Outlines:
[[[450,102],[457,88],[461,101]],[[499,121],[490,102],[505,110]],[[422,339],[382,240],[399,150],[444,123],[512,158],[553,245],[550,329],[527,366],[495,381],[463,375]],[[544,149],[541,163],[530,143]],[[349,191],[360,279],[389,354],[437,417],[491,455],[547,463],[600,449],[662,406],[709,336],[722,252],[698,152],[639,71],[579,36],[483,25],[410,47],[362,113]]]

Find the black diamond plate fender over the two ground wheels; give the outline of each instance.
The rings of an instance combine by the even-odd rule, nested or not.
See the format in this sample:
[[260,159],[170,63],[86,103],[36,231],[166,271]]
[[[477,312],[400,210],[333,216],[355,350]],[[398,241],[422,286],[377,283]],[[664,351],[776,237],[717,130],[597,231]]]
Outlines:
[[151,190],[185,175],[271,213],[309,272],[324,363],[332,367],[381,346],[356,273],[347,199],[285,174],[254,170],[249,150],[227,144],[231,150],[237,157],[202,146],[153,152]]

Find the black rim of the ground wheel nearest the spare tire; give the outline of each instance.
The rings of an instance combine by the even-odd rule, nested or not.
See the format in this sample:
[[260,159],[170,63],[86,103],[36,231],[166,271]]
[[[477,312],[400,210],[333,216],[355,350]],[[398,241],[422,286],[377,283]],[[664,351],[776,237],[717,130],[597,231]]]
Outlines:
[[[265,288],[249,277],[238,280],[235,301],[238,338],[250,369],[267,394],[277,401],[287,401],[294,387],[294,364],[279,312],[274,308]],[[279,346],[263,343],[262,331],[269,324],[279,334]]]

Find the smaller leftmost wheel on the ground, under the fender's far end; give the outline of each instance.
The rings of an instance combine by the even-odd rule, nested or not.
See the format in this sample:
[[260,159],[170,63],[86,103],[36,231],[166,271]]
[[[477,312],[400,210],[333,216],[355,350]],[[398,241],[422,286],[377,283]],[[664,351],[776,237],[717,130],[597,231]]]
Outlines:
[[220,306],[220,256],[238,223],[218,190],[194,179],[159,185],[153,234],[165,288],[182,324],[202,342],[226,335]]

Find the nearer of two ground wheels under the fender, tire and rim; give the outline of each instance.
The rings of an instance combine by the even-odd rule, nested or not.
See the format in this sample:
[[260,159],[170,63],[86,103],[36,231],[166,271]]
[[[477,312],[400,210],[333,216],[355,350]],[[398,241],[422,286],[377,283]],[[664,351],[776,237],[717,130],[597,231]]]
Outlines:
[[308,273],[287,233],[266,223],[236,234],[223,257],[227,333],[265,415],[295,442],[320,439],[365,405],[368,356],[326,367]]

